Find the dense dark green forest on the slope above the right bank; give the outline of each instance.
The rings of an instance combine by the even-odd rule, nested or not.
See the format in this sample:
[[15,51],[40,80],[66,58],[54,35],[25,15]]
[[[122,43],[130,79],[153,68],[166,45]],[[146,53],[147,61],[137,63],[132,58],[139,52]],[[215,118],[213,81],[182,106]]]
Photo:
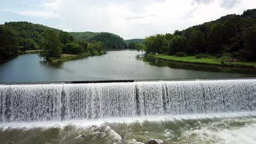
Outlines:
[[256,9],[246,10],[242,15],[226,15],[174,31],[173,34],[156,34],[147,37],[137,50],[163,53],[178,57],[203,53],[222,57],[225,61],[256,61]]

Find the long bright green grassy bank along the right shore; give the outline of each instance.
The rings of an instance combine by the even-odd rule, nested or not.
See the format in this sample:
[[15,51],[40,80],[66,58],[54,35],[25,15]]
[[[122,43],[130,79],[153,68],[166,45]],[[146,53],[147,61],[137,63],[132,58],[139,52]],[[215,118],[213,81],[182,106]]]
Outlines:
[[233,67],[254,67],[256,68],[256,62],[224,62],[222,63],[219,59],[210,57],[210,58],[195,58],[195,56],[187,57],[176,57],[168,55],[153,55],[148,54],[149,57],[156,59],[162,59],[165,61],[176,61],[184,63],[196,63],[196,64],[210,64],[210,65],[223,65],[223,66],[233,66]]

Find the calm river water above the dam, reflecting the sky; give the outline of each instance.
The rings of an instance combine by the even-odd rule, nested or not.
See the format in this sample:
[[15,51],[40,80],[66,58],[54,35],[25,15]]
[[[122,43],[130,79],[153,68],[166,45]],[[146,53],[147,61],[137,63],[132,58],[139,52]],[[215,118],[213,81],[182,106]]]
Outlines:
[[0,82],[256,77],[255,69],[164,62],[143,54],[107,51],[106,55],[60,63],[44,62],[37,54],[20,55],[0,65]]

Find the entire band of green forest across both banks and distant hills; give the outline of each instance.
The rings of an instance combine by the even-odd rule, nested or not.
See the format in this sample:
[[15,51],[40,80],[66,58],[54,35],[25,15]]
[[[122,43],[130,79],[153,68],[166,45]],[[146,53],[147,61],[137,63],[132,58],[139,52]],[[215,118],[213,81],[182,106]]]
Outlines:
[[103,49],[136,49],[169,56],[212,55],[224,61],[256,61],[256,9],[242,15],[230,14],[174,33],[151,35],[145,39],[124,40],[107,32],[63,32],[30,22],[0,25],[0,63],[19,52],[42,50],[40,56],[79,55]]

